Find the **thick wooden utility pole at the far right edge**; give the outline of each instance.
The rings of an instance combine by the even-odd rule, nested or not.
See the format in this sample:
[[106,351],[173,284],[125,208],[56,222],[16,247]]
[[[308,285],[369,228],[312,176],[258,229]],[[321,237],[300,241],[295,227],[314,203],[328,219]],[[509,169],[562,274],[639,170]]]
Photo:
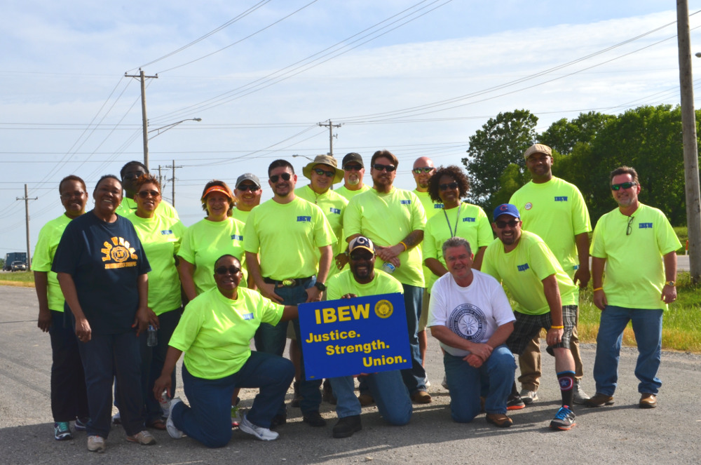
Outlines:
[[676,0],[676,37],[679,44],[679,90],[681,94],[681,131],[684,144],[689,274],[693,283],[699,283],[701,281],[701,195],[687,0]]

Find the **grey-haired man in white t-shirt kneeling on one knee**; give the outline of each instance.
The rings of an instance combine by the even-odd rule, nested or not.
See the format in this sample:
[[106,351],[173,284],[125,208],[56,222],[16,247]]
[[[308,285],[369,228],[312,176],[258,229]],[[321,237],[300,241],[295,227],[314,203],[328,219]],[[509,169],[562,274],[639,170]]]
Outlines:
[[472,422],[482,394],[486,421],[506,428],[513,423],[506,416],[506,400],[516,361],[505,342],[516,318],[498,281],[472,270],[468,241],[449,238],[443,257],[449,272],[431,290],[428,326],[444,349],[451,416],[456,422]]

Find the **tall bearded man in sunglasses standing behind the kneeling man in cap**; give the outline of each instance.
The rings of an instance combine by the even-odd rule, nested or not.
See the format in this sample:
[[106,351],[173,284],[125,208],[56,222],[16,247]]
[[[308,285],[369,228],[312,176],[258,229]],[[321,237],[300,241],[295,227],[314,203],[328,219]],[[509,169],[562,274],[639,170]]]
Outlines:
[[[378,150],[372,155],[370,164],[373,188],[353,197],[343,215],[343,227],[348,234],[346,241],[358,236],[369,238],[381,259],[375,267],[389,264],[393,276],[402,283],[412,364],[411,368],[402,370],[402,377],[414,402],[429,403],[431,396],[426,392],[426,370],[421,365],[418,349],[418,317],[425,281],[421,248],[417,246],[423,241],[426,212],[414,192],[394,187],[399,161],[393,153]],[[361,396],[364,395],[369,396],[369,393],[361,392]],[[369,401],[372,402],[372,398]],[[361,402],[367,405],[367,400],[361,399]]]

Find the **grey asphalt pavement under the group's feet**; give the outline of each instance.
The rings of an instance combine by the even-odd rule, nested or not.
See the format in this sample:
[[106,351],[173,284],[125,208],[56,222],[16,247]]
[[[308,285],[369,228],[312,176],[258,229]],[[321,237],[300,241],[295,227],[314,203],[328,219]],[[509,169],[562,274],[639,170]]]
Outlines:
[[[158,445],[143,447],[125,441],[114,427],[102,455],[86,450],[85,433],[72,441],[53,439],[50,412],[51,352],[48,335],[36,328],[34,289],[0,287],[0,463],[2,464],[697,464],[701,443],[701,356],[662,353],[664,382],[659,406],[637,407],[637,352],[624,349],[620,386],[613,407],[578,407],[578,425],[571,431],[550,431],[547,424],[559,407],[559,389],[552,358],[544,356],[546,376],[540,400],[512,412],[514,426],[498,429],[480,415],[471,424],[456,424],[449,414],[449,395],[440,386],[440,348],[429,338],[427,371],[433,403],[414,405],[407,426],[387,426],[374,407],[365,407],[363,430],[352,438],[333,439],[332,405],[322,404],[329,424],[311,428],[299,409],[288,408],[280,438],[263,443],[233,431],[229,445],[208,450],[189,438],[172,440],[154,431]],[[590,376],[594,346],[583,346],[585,391],[594,393]],[[179,370],[178,370],[179,375]],[[184,398],[182,384],[178,395]],[[242,393],[250,406],[253,390]],[[292,390],[288,398],[292,397]]]

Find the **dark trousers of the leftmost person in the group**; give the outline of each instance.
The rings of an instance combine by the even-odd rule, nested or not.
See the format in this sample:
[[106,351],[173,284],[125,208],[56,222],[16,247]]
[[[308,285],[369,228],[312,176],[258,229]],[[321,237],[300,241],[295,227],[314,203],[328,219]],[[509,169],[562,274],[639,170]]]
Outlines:
[[62,311],[51,311],[51,412],[54,422],[89,416],[88,391],[78,338]]

